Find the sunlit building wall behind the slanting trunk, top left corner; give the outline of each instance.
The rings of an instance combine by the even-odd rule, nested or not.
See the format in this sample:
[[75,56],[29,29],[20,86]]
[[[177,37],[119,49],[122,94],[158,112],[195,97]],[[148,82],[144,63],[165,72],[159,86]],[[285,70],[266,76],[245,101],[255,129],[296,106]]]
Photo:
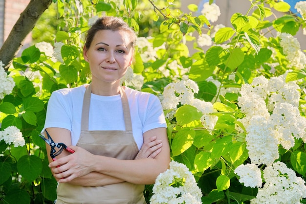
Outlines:
[[[0,46],[3,44],[7,36],[10,34],[13,26],[19,19],[20,14],[25,9],[25,7],[28,5],[30,0],[0,0],[0,3],[1,1],[2,1],[2,4],[4,2],[4,6],[0,6],[1,8],[4,8],[4,12],[2,13],[2,15],[0,15],[0,24],[2,25],[2,27],[0,25],[0,29],[3,33],[2,39],[0,38]],[[4,19],[3,19],[3,16],[4,16]],[[32,36],[31,34],[29,34],[26,37],[23,45],[29,44],[31,42],[31,39],[32,39]]]

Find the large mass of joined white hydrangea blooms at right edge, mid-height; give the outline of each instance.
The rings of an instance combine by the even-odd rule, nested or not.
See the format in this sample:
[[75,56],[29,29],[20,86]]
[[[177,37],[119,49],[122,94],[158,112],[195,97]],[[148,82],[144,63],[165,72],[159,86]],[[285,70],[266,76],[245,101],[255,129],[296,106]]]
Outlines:
[[268,80],[260,76],[241,87],[238,105],[245,117],[239,121],[246,130],[252,163],[270,165],[279,158],[279,144],[288,150],[294,146],[294,138],[306,142],[306,118],[298,110],[299,86],[286,83],[285,77]]

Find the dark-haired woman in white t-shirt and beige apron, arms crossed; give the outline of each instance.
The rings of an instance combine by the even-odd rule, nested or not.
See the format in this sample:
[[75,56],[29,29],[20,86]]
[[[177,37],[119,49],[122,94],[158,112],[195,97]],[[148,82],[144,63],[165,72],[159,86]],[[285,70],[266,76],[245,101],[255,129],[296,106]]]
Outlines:
[[50,97],[44,129],[75,151],[49,158],[59,182],[56,204],[145,204],[144,184],[169,167],[160,101],[120,84],[133,61],[135,40],[122,19],[98,19],[83,49],[90,85]]

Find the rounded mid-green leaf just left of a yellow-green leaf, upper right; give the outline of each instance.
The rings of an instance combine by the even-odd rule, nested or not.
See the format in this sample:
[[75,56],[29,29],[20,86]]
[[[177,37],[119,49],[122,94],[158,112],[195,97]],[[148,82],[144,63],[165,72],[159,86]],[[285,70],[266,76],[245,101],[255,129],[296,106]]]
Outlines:
[[228,50],[221,46],[212,46],[206,52],[205,59],[209,66],[217,66],[221,64],[228,55]]

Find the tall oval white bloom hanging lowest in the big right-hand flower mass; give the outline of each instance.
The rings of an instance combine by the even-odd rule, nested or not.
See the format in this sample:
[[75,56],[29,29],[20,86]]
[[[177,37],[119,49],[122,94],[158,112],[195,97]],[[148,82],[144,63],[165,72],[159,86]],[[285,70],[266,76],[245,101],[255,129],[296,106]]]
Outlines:
[[269,120],[253,115],[245,129],[246,149],[252,163],[271,165],[279,158],[278,140]]

